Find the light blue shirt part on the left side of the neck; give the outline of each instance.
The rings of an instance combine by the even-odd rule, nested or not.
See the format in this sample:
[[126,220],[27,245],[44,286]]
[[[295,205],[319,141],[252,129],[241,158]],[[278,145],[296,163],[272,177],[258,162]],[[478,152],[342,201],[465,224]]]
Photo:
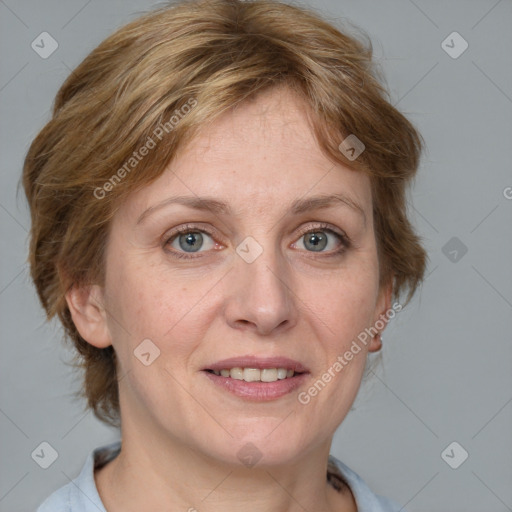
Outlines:
[[94,481],[94,468],[114,458],[120,448],[120,441],[116,441],[90,452],[80,474],[46,498],[36,512],[106,512]]

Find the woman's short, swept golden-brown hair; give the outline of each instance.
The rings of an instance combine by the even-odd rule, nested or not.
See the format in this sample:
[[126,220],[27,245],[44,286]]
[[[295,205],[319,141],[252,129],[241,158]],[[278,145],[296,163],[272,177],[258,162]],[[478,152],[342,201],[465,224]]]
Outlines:
[[[31,275],[48,318],[59,316],[78,351],[81,393],[106,423],[120,419],[115,352],[80,336],[67,290],[103,283],[110,220],[128,193],[161,175],[206,122],[277,85],[304,99],[333,162],[369,174],[381,286],[392,283],[395,298],[408,290],[407,303],[422,281],[427,255],[406,191],[423,142],[391,105],[369,40],[274,0],[180,1],[145,14],[71,73],[23,169]],[[356,160],[339,149],[350,134],[365,145]],[[143,146],[150,151],[131,161]]]

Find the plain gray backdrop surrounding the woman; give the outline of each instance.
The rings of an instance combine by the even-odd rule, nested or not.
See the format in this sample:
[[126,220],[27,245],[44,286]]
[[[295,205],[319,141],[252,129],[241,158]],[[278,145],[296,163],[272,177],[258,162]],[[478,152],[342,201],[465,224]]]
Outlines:
[[[388,326],[383,361],[332,452],[410,512],[511,511],[512,2],[306,4],[368,32],[393,102],[428,146],[411,193],[428,277]],[[34,510],[76,476],[90,450],[118,437],[71,396],[71,352],[58,324],[45,323],[27,272],[29,217],[17,188],[28,145],[70,70],[152,5],[0,0],[1,511]],[[31,48],[43,31],[59,44],[47,59]],[[441,47],[453,31],[469,44],[456,59]],[[31,458],[43,441],[58,452],[46,470]],[[458,469],[441,457],[453,441],[469,453]],[[449,452],[451,460],[460,453]]]

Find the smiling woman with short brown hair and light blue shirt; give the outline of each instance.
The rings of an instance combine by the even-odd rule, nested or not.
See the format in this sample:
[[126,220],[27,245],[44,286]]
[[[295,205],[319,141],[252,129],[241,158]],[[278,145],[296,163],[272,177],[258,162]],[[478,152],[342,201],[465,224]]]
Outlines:
[[304,9],[180,2],[96,48],[23,183],[38,294],[121,441],[39,511],[400,509],[329,450],[423,278],[420,151],[371,47]]

